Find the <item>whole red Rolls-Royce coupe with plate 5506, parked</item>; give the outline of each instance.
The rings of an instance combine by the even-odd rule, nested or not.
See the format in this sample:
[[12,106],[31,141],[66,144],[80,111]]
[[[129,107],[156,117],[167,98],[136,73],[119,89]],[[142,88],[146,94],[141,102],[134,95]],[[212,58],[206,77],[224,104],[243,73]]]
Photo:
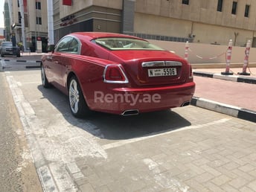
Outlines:
[[119,33],[64,36],[42,56],[42,86],[68,95],[71,113],[136,115],[187,106],[195,91],[191,65],[145,39]]

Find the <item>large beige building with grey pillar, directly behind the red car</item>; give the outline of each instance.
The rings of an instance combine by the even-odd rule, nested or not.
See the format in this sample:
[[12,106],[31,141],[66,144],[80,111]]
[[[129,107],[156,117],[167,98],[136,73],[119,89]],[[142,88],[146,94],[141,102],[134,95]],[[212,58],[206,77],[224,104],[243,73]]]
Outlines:
[[[65,5],[68,4],[68,5]],[[147,39],[256,44],[252,0],[54,0],[55,41],[74,31],[129,33]]]

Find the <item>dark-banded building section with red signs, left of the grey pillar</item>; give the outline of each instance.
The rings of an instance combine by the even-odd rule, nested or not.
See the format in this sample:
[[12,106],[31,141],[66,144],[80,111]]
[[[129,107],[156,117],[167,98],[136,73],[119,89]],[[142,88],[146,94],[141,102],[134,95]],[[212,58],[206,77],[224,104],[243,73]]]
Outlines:
[[121,33],[123,1],[54,0],[54,39],[77,31]]

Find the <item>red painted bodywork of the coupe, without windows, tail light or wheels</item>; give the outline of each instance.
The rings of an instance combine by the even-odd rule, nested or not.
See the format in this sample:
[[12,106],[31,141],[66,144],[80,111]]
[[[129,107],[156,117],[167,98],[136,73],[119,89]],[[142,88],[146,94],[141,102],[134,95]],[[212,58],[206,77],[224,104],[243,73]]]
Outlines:
[[[80,40],[80,54],[54,51],[42,57],[42,65],[49,83],[66,95],[68,79],[75,75],[89,109],[121,115],[127,110],[153,112],[191,101],[195,90],[191,65],[176,54],[161,50],[113,51],[92,41],[101,37],[132,37],[123,34],[81,32],[70,36]],[[144,67],[142,63],[154,61],[179,62],[180,65],[171,67],[176,68],[176,75],[149,77],[150,68],[163,67]],[[112,64],[120,65],[128,83],[104,82],[104,70]],[[158,100],[153,100],[155,96]]]

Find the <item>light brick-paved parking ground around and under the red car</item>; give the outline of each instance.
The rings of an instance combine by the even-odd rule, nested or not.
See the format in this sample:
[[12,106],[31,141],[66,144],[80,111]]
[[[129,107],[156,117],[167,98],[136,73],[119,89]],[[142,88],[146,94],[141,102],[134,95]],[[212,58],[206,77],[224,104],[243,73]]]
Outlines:
[[[38,68],[20,65],[0,73],[0,169],[18,174],[1,182],[19,183],[6,191],[22,182],[38,191],[36,172],[44,191],[256,191],[255,123],[196,106],[78,119],[68,97],[42,87]],[[31,179],[21,182],[22,161]]]

